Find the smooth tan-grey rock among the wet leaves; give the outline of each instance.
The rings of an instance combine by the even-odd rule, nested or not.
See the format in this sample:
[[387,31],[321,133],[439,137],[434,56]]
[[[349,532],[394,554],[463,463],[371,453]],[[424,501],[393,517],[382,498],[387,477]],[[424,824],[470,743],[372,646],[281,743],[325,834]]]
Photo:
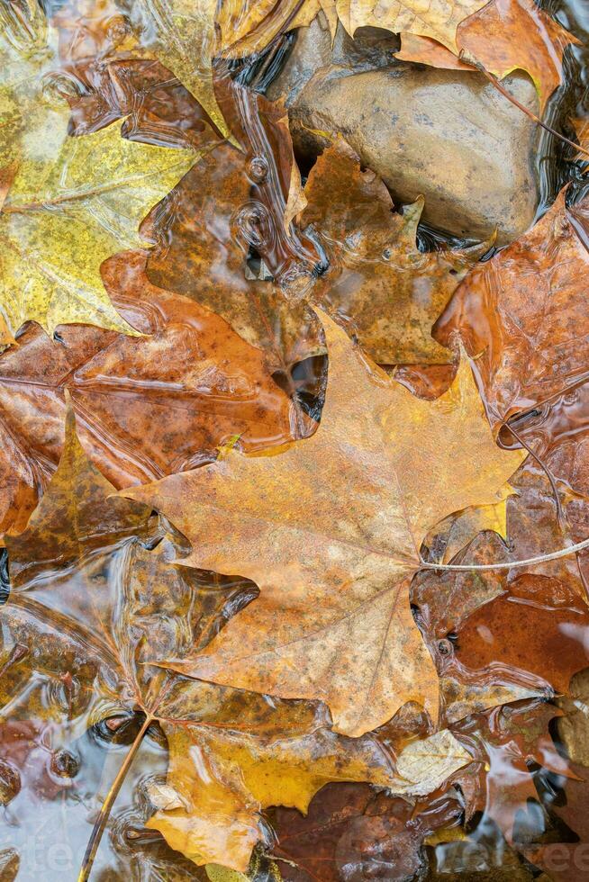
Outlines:
[[[380,175],[395,202],[425,197],[423,220],[458,236],[516,238],[534,219],[538,126],[482,74],[437,70],[393,58],[397,38],[341,28],[331,47],[325,23],[300,28],[268,89],[285,95],[299,156],[317,156],[342,134]],[[503,85],[539,112],[530,78]]]

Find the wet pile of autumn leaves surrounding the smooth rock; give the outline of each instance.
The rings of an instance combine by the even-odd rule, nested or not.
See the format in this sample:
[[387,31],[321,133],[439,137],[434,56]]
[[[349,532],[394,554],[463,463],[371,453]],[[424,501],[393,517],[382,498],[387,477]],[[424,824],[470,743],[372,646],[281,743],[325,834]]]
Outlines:
[[589,203],[425,250],[342,133],[301,169],[245,74],[319,13],[542,106],[575,42],[526,0],[0,9],[0,878],[585,836]]

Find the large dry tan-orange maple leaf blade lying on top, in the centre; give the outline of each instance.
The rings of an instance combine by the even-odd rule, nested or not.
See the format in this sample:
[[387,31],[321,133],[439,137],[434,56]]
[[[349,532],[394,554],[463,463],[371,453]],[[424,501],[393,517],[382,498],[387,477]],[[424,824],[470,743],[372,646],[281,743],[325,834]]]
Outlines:
[[421,541],[449,512],[492,502],[521,453],[494,446],[467,363],[446,395],[420,401],[322,322],[329,384],[312,438],[123,493],[190,539],[183,564],[240,572],[261,590],[205,653],[169,664],[321,698],[338,731],[359,735],[407,701],[437,716],[436,671],[408,600]]

